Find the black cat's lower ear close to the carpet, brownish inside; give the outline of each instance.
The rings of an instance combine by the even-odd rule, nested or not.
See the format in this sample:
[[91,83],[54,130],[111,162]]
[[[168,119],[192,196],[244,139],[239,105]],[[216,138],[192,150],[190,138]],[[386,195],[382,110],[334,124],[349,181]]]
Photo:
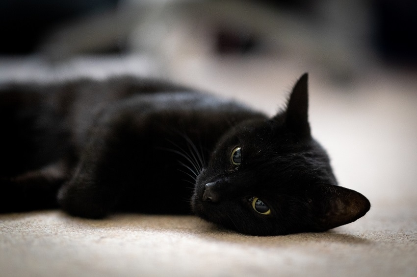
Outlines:
[[368,199],[359,192],[337,185],[320,184],[313,188],[314,225],[325,231],[351,223],[370,208]]

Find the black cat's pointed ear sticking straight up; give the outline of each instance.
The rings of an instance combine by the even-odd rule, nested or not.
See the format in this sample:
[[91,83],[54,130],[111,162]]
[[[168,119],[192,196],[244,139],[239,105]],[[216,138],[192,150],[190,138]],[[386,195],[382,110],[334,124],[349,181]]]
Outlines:
[[304,73],[293,87],[284,118],[287,128],[299,137],[310,137],[308,78]]

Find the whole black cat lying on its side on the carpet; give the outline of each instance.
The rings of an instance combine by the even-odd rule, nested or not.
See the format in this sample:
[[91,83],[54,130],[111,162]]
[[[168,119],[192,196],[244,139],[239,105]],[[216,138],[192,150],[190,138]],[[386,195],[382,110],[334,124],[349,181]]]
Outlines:
[[0,211],[60,206],[102,218],[192,210],[252,235],[353,222],[370,204],[337,186],[311,137],[307,81],[304,74],[272,118],[130,77],[3,85]]

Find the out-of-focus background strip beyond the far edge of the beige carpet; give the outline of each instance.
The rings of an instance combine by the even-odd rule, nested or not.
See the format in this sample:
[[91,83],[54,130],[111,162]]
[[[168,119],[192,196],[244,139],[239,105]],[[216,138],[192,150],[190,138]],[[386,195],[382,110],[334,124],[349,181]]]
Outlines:
[[3,0],[0,55],[268,56],[350,81],[375,63],[417,67],[413,0]]

